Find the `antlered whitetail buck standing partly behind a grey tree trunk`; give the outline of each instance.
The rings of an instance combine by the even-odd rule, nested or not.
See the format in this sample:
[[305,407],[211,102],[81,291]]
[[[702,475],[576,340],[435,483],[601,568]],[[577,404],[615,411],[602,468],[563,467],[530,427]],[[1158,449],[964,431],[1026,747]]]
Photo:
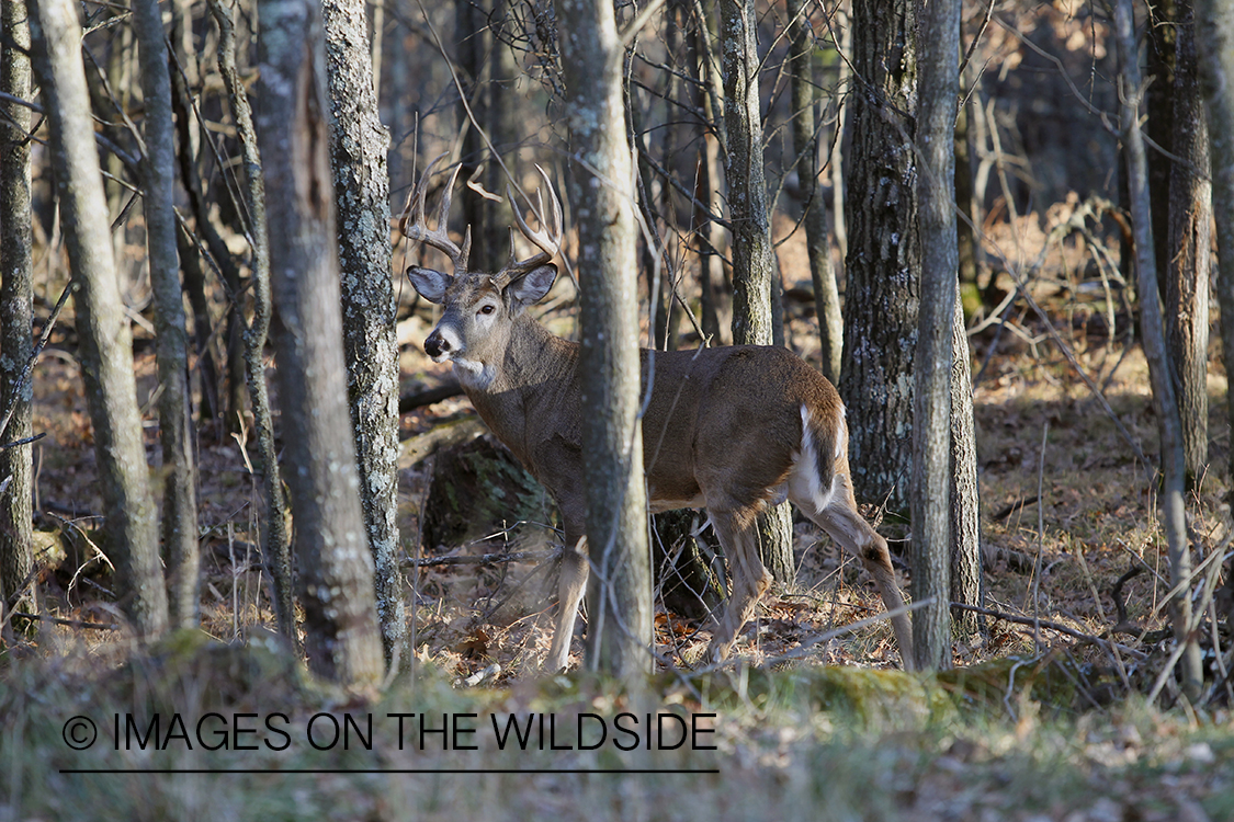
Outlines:
[[[424,170],[400,222],[405,237],[442,251],[453,264],[453,272],[417,265],[406,271],[420,296],[442,307],[424,351],[436,362],[453,364],[480,418],[558,505],[565,550],[545,667],[564,670],[589,576],[579,343],[553,334],[527,312],[557,280],[552,260],[560,251],[561,205],[548,175],[537,166],[544,185],[537,192],[540,228],[533,232],[507,186],[518,229],[537,251],[517,259],[511,227],[510,261],[495,274],[473,271],[468,267],[470,226],[462,246],[447,233],[458,168],[441,195],[437,227],[428,228],[427,186],[441,159]],[[728,657],[770,588],[771,574],[759,558],[755,520],[766,507],[789,499],[870,573],[892,612],[901,662],[911,669],[912,631],[905,599],[887,541],[858,510],[844,403],[832,383],[796,354],[771,346],[654,354],[644,349],[644,392],[650,368],[653,389],[642,419],[649,508],[652,513],[706,509],[732,578],[707,658]]]

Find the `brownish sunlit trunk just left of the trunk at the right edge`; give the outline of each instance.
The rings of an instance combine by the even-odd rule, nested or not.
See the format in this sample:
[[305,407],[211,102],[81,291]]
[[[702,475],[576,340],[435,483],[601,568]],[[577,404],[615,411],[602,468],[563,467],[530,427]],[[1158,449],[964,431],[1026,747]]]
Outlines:
[[1208,126],[1196,67],[1196,21],[1191,0],[1177,1],[1175,42],[1174,153],[1170,233],[1165,274],[1166,341],[1175,365],[1182,418],[1187,487],[1208,470],[1208,272],[1212,243],[1212,182]]

